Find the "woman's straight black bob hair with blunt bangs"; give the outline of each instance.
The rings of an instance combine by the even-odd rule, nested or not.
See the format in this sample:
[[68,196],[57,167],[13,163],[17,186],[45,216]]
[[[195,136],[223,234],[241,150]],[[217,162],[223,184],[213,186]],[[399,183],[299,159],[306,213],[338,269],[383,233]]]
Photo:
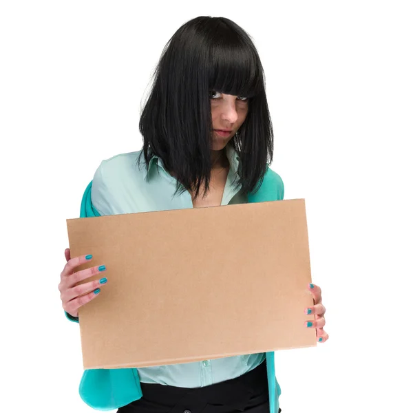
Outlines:
[[[153,156],[177,179],[176,193],[198,197],[211,176],[211,90],[248,98],[248,114],[233,145],[242,195],[255,192],[273,161],[273,126],[264,70],[250,36],[224,17],[197,17],[169,39],[153,73],[139,130],[147,169]],[[140,158],[140,157],[139,157]],[[176,194],[175,193],[175,194]]]

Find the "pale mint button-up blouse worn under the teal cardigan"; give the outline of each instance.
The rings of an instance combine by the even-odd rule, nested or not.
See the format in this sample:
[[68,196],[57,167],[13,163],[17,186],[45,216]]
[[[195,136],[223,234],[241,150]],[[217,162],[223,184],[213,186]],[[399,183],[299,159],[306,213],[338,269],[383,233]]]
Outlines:
[[[188,191],[173,198],[176,178],[165,171],[162,160],[152,158],[147,172],[143,155],[140,165],[136,165],[139,154],[140,151],[121,153],[100,163],[93,178],[91,192],[92,204],[98,213],[114,215],[193,208]],[[245,203],[246,196],[241,197],[239,187],[237,189],[239,159],[230,145],[226,146],[226,156],[230,169],[221,205]],[[208,335],[209,332],[205,334]],[[199,388],[239,377],[257,367],[264,359],[265,353],[246,354],[137,370],[142,383]]]

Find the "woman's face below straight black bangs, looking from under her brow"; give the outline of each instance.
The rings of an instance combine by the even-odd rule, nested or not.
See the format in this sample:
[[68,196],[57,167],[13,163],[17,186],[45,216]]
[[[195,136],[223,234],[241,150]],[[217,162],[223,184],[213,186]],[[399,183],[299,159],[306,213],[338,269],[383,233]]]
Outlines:
[[[242,96],[222,94],[215,90],[210,92],[212,117],[212,149],[220,151],[240,129],[248,114],[248,99]],[[220,136],[218,130],[231,130],[227,136]]]

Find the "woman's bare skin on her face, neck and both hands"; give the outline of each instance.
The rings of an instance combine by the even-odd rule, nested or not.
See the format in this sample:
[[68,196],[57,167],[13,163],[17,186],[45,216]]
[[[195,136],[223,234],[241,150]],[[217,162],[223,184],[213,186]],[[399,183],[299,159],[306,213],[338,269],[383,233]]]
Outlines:
[[[227,138],[218,136],[212,132],[212,150],[211,157],[215,165],[211,171],[211,187],[208,195],[204,198],[199,197],[198,200],[193,200],[193,207],[211,207],[221,204],[222,193],[226,182],[226,176],[229,171],[229,162],[225,155],[225,147],[233,138],[236,131],[240,129],[242,123],[248,114],[248,100],[242,96],[233,96],[229,94],[221,94],[220,92],[211,92],[211,116],[213,129],[231,129],[231,135]],[[96,288],[104,287],[105,284],[100,284],[96,279],[92,282],[80,284],[83,281],[97,273],[98,266],[92,266],[82,271],[77,271],[76,268],[89,260],[85,259],[85,255],[81,257],[70,257],[70,249],[65,249],[66,264],[61,272],[61,282],[59,283],[59,291],[61,293],[61,301],[63,309],[72,315],[78,317],[78,308],[84,306],[92,299],[98,297],[99,294],[94,294]],[[93,260],[93,258],[92,258]],[[104,277],[104,275],[102,276]],[[109,280],[108,280],[109,282]],[[311,286],[313,285],[313,288]],[[317,342],[324,343],[328,340],[328,334],[324,331],[326,319],[324,313],[326,308],[322,304],[321,288],[315,284],[308,284],[307,289],[313,295],[314,306],[308,307],[311,310],[310,314],[315,314],[313,326],[308,327],[307,321],[304,323],[304,328],[315,328]],[[308,315],[308,308],[304,308],[304,314]],[[319,341],[319,339],[322,341]]]

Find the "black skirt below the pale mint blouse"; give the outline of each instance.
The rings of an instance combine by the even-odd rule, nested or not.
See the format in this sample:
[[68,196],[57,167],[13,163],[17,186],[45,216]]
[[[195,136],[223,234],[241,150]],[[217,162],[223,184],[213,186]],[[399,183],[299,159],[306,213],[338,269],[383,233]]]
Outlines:
[[[266,360],[235,379],[202,388],[140,383],[142,397],[118,413],[269,413]],[[278,413],[281,409],[278,410]]]

